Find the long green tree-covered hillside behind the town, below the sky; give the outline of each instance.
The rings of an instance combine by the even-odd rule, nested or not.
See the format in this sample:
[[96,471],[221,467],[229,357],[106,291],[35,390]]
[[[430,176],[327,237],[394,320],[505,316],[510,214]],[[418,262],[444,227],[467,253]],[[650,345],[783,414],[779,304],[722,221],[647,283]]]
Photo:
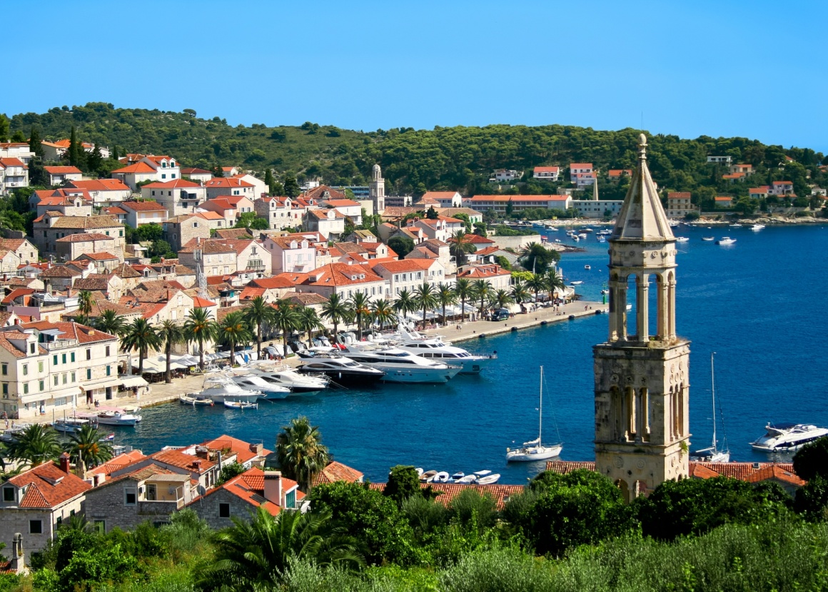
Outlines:
[[[602,198],[623,196],[621,185],[605,182],[609,169],[633,168],[640,130],[598,131],[592,128],[548,125],[539,127],[490,125],[484,128],[399,128],[356,132],[305,123],[300,127],[268,128],[229,126],[224,119],[197,117],[157,109],[113,108],[109,103],[51,108],[48,113],[22,113],[9,118],[10,132],[28,137],[38,128],[48,140],[77,137],[125,152],[170,154],[187,166],[243,166],[263,171],[271,168],[277,178],[296,175],[321,177],[330,185],[363,185],[371,166],[378,162],[388,182],[388,193],[419,195],[426,190],[460,190],[465,195],[491,193],[488,182],[496,168],[525,171],[513,193],[552,193],[559,185],[532,180],[532,167],[570,162],[593,162],[599,169]],[[722,175],[726,167],[708,164],[707,156],[732,156],[735,163],[753,165],[749,180],[731,183]],[[788,156],[792,161],[786,159]],[[792,180],[797,195],[810,196],[809,184],[821,183],[825,173],[817,165],[820,152],[809,148],[766,146],[744,137],[652,136],[649,166],[659,187],[667,191],[691,191],[703,206],[715,195],[748,195],[749,187],[771,180]],[[810,176],[810,178],[809,178]],[[568,176],[562,176],[568,179]],[[603,177],[603,178],[602,178]],[[562,185],[566,185],[565,183]]]

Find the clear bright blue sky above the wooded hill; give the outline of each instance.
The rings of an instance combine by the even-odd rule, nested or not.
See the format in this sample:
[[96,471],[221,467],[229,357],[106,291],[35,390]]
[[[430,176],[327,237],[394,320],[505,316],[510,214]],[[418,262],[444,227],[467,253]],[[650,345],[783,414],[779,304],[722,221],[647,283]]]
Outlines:
[[828,2],[3,2],[0,111],[562,123],[828,152]]

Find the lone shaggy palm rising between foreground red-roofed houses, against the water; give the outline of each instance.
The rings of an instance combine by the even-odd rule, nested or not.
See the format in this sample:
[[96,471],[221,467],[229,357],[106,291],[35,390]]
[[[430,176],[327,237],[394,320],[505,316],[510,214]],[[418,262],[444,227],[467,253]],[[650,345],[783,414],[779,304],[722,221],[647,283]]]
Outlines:
[[310,492],[314,477],[329,460],[319,427],[311,426],[307,417],[297,417],[290,426],[282,426],[276,437],[276,453],[282,473],[305,493]]

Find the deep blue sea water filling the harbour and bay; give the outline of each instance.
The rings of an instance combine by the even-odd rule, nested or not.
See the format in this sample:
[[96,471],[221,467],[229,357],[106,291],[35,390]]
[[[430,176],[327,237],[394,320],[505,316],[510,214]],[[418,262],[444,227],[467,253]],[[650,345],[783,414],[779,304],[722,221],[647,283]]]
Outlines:
[[[678,257],[677,326],[691,339],[692,445],[711,438],[710,352],[716,395],[732,460],[766,460],[748,442],[767,421],[828,425],[826,227],[688,229]],[[551,233],[551,238],[557,234]],[[729,234],[731,247],[703,242]],[[566,254],[566,277],[600,300],[607,244],[581,241],[585,253]],[[589,264],[591,269],[585,270]],[[543,463],[505,462],[505,449],[537,436],[539,367],[544,366],[544,440],[564,442],[562,460],[593,460],[592,345],[607,335],[606,315],[465,342],[499,359],[479,376],[446,385],[381,385],[315,397],[263,402],[258,412],[176,403],[143,412],[137,428],[118,428],[117,440],[144,452],[188,445],[227,433],[272,448],[281,426],[306,415],[320,426],[337,460],[382,481],[394,464],[424,469],[492,469],[502,483],[520,484]],[[450,335],[448,335],[450,338]],[[724,436],[721,426],[719,437]]]

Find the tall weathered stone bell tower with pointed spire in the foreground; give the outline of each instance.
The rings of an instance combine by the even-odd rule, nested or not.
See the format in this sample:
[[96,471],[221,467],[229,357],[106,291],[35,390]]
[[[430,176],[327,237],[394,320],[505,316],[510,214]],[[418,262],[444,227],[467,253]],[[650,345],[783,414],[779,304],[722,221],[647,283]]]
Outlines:
[[609,238],[609,339],[593,351],[595,470],[628,500],[686,479],[690,342],[676,336],[676,238],[647,169],[644,134]]

